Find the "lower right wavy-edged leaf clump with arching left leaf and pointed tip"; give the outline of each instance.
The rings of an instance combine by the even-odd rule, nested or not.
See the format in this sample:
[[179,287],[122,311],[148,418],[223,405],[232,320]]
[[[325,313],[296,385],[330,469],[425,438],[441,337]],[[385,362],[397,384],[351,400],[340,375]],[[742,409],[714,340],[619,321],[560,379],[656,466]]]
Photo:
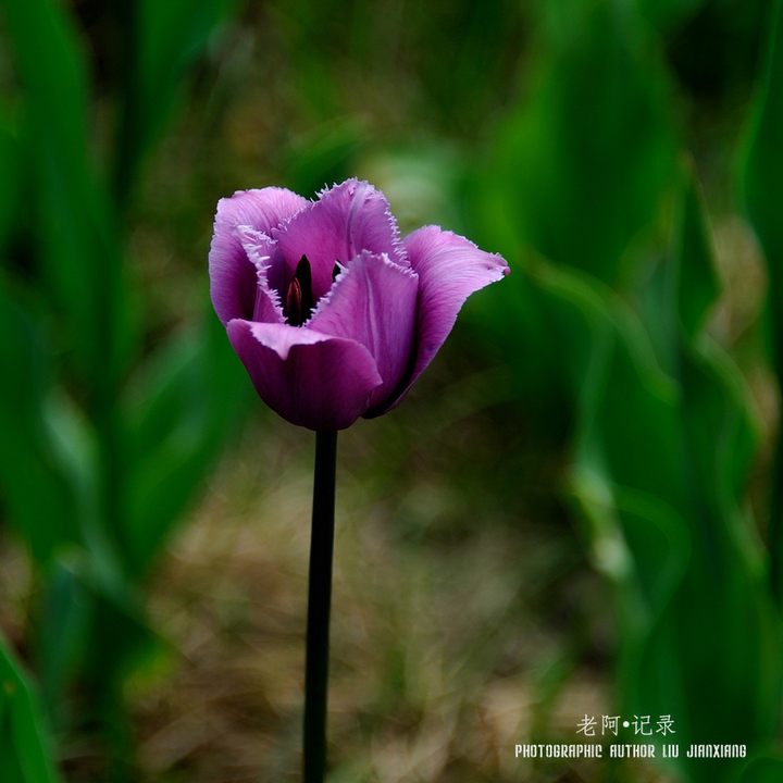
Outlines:
[[[606,287],[545,264],[536,279],[550,350],[573,382],[569,488],[594,561],[618,584],[624,708],[672,714],[680,744],[753,751],[774,736],[781,693],[780,625],[741,513],[758,427],[742,375],[700,331],[717,287],[687,187],[649,327],[668,324],[672,374],[645,322]],[[694,781],[731,780],[742,763],[679,760]]]

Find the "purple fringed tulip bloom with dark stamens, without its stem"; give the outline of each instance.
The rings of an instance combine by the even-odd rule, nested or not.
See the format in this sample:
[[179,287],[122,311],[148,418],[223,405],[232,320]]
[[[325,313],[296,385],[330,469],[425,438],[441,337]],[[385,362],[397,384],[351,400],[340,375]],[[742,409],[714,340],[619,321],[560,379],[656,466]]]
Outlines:
[[424,226],[400,239],[384,195],[348,179],[308,201],[268,187],[221,199],[212,303],[259,396],[293,424],[381,415],[432,361],[497,254]]

